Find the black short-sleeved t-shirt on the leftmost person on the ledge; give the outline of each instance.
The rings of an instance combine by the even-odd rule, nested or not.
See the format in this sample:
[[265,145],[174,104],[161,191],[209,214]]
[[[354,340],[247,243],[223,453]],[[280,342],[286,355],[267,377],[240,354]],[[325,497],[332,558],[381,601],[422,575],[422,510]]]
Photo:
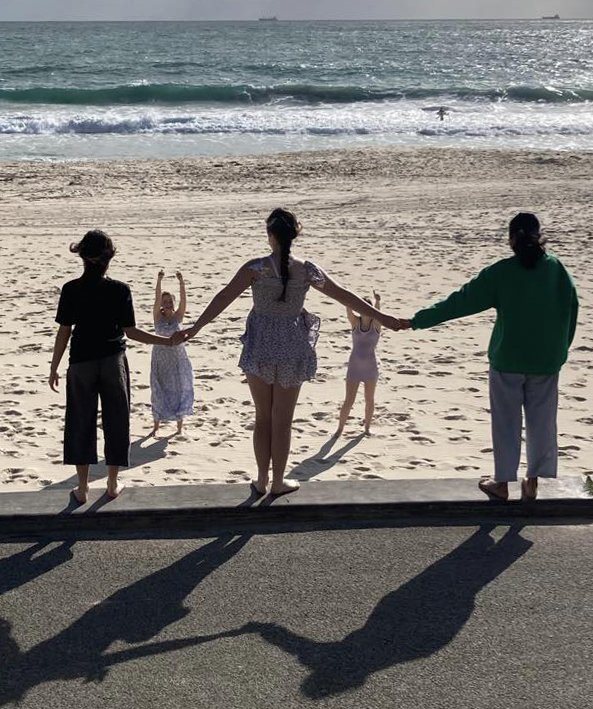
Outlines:
[[74,325],[72,363],[123,352],[124,328],[136,325],[130,288],[100,276],[83,275],[69,281],[62,288],[56,322]]

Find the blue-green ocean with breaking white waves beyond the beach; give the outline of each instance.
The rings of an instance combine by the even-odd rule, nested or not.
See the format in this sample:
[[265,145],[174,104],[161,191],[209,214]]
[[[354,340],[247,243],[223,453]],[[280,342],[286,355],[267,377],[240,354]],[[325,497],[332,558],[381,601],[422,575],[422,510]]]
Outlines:
[[0,23],[0,160],[367,145],[593,150],[593,21]]

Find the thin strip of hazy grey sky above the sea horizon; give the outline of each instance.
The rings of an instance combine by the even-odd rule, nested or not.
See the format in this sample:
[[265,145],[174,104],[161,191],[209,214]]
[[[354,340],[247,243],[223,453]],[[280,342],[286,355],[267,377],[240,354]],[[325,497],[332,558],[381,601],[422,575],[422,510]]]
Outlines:
[[593,0],[0,0],[0,20],[593,18]]

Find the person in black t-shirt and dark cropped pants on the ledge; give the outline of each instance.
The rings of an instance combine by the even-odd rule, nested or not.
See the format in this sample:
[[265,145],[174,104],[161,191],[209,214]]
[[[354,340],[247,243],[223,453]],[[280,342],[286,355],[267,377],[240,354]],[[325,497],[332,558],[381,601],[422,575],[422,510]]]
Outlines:
[[[97,409],[101,417],[107,463],[107,495],[117,497],[119,468],[129,465],[130,370],[125,337],[151,345],[179,344],[182,335],[160,337],[136,327],[129,286],[106,276],[115,255],[111,239],[89,231],[70,251],[84,262],[84,273],[62,288],[49,385],[57,391],[58,367],[70,341],[66,376],[64,464],[75,465],[80,503],[88,498],[89,465],[97,462]],[[73,330],[74,328],[74,330]]]

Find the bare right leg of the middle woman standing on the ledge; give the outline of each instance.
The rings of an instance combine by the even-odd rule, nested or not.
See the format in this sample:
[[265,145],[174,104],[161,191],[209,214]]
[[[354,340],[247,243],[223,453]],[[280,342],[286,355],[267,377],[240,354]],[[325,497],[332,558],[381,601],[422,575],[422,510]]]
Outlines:
[[286,462],[290,452],[292,419],[299,399],[300,387],[284,389],[274,385],[272,395],[272,494],[298,490],[296,480],[284,480]]

